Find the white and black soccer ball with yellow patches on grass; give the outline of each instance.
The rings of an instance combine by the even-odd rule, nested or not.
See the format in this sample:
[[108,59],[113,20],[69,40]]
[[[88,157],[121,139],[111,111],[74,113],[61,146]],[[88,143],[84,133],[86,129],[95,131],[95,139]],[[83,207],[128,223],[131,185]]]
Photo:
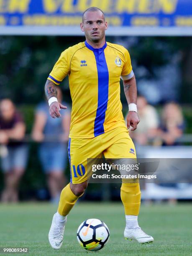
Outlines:
[[109,229],[102,220],[85,220],[77,229],[77,241],[88,251],[98,251],[109,241]]

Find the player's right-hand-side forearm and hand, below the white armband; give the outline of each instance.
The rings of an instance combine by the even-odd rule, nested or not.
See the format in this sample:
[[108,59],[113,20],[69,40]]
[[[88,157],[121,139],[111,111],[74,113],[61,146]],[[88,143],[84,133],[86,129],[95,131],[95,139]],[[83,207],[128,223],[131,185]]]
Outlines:
[[[125,97],[127,99],[128,105],[130,103],[137,104],[137,86],[136,78],[133,76],[131,79],[123,81]],[[127,128],[130,128],[130,125],[133,127],[131,131],[136,130],[139,123],[139,117],[137,112],[129,111],[127,115]]]

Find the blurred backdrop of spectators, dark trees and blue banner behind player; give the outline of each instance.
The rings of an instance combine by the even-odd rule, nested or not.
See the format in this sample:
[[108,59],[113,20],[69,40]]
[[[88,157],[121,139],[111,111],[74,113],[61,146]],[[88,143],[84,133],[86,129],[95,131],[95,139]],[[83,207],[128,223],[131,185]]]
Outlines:
[[[189,0],[0,1],[0,195],[3,202],[58,202],[70,180],[68,78],[59,97],[68,106],[51,120],[44,84],[62,51],[84,41],[82,12],[106,14],[106,41],[128,49],[138,87],[140,158],[192,156],[192,2]],[[121,101],[128,105],[121,81]],[[47,139],[49,135],[51,139]],[[57,154],[54,154],[57,152]],[[189,182],[141,184],[143,202],[192,200]],[[105,188],[105,189],[104,189]],[[90,184],[81,200],[120,200],[120,184]],[[103,192],[105,191],[105,193]]]

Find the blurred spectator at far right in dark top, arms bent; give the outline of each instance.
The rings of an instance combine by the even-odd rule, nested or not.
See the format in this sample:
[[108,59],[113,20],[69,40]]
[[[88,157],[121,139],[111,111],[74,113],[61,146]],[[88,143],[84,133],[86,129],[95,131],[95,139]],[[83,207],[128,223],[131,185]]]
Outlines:
[[184,119],[182,110],[175,102],[167,103],[162,111],[159,137],[162,146],[176,146],[177,138],[181,137],[184,131]]

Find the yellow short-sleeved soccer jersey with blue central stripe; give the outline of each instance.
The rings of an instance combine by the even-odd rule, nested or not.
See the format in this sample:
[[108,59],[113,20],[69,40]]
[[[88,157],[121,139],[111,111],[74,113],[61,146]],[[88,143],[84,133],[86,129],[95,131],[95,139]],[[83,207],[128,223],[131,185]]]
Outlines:
[[124,126],[120,77],[133,77],[128,51],[105,43],[95,49],[87,41],[61,53],[48,79],[55,84],[69,75],[72,97],[70,138],[94,138]]

